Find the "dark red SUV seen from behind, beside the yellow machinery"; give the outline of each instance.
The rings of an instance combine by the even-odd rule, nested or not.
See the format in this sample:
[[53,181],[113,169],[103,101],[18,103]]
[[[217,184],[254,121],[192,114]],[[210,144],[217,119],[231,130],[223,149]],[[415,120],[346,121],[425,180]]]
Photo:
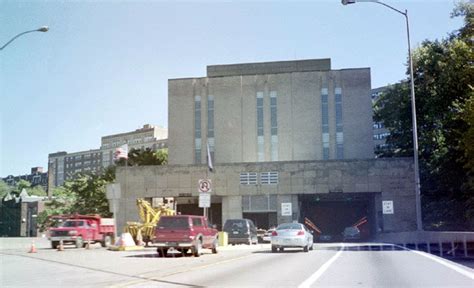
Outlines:
[[153,243],[158,247],[158,255],[166,256],[173,248],[186,255],[189,250],[199,257],[203,248],[217,253],[218,231],[209,227],[206,217],[196,215],[162,216],[155,229]]

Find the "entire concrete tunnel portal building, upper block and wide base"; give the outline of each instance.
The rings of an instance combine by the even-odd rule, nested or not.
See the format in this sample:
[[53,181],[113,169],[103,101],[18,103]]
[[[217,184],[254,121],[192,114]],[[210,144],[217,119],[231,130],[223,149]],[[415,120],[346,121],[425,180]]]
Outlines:
[[[410,231],[410,158],[375,159],[370,69],[331,70],[330,59],[215,65],[168,82],[166,166],[119,168],[119,228],[137,198],[201,214],[198,182],[212,183],[209,220],[259,228],[309,219],[339,238]],[[209,171],[208,158],[213,171]]]

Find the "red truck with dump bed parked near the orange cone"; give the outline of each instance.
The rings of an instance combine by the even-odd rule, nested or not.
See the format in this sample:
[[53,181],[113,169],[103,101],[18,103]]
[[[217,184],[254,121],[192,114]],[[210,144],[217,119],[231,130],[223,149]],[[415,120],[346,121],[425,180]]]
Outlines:
[[107,247],[112,244],[113,235],[114,219],[101,218],[99,215],[70,215],[59,227],[48,230],[53,249],[58,247],[61,240],[63,244],[72,243],[77,248],[96,242]]

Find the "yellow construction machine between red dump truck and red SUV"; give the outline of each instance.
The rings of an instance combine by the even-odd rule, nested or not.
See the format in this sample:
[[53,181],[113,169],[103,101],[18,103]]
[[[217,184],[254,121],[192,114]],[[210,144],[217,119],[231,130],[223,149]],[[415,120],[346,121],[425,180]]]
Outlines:
[[130,233],[138,245],[142,245],[143,243],[147,245],[148,242],[151,241],[155,235],[156,223],[158,223],[161,216],[176,214],[173,209],[163,204],[153,208],[150,202],[141,198],[137,199],[137,208],[142,222],[127,222],[125,232]]

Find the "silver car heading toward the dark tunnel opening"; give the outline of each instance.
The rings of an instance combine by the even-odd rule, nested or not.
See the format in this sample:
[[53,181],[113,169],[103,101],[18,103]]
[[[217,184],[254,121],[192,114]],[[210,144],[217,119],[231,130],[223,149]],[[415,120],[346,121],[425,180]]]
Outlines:
[[313,235],[301,223],[284,223],[278,225],[272,233],[272,252],[277,249],[303,248],[304,252],[313,250]]

